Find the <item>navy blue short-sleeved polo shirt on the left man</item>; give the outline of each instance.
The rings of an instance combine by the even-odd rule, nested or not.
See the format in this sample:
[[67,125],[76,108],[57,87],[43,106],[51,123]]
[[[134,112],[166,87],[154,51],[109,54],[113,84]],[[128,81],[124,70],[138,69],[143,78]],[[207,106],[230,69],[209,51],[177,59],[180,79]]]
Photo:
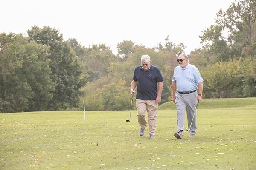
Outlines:
[[136,99],[155,100],[157,98],[157,83],[163,82],[160,69],[151,65],[147,71],[142,66],[134,70],[134,81],[137,81]]

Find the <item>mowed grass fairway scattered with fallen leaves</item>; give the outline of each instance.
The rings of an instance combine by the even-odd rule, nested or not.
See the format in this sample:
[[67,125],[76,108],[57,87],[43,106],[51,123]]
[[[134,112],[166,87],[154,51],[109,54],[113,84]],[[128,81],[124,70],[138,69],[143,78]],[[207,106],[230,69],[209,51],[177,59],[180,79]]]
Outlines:
[[86,111],[86,121],[83,111],[2,113],[0,170],[255,170],[256,98],[233,100],[248,102],[201,102],[197,136],[183,139],[175,109],[158,110],[156,139],[148,127],[139,136],[135,110],[130,123],[130,111]]

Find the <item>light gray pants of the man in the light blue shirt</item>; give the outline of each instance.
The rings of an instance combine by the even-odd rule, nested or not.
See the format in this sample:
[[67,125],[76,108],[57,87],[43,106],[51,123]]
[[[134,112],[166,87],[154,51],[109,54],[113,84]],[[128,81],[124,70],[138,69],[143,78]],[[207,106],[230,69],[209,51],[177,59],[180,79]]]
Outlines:
[[[180,130],[184,129],[185,110],[187,112],[188,128],[191,125],[191,121],[197,105],[197,93],[196,92],[190,93],[190,94],[176,93],[175,96],[176,96],[175,103],[177,107],[177,132],[180,132]],[[189,133],[196,132],[196,117],[197,116],[195,113]]]

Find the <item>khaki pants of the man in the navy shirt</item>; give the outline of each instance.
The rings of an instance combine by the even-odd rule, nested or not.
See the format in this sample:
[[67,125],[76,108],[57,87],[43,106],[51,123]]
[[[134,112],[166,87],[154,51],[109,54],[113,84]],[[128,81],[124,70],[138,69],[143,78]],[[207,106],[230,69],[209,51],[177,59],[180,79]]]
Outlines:
[[149,134],[154,135],[157,129],[158,104],[155,100],[136,99],[136,107],[138,110],[138,122],[143,129],[147,127],[146,111],[148,112]]

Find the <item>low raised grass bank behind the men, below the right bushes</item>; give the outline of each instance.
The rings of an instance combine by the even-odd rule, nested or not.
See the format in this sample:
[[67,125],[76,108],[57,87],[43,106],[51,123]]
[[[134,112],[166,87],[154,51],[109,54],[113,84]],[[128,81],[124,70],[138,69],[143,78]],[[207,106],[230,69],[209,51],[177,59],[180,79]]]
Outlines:
[[[232,99],[203,99],[198,108],[237,108],[248,105],[256,105],[256,97],[232,98]],[[166,102],[159,106],[159,109],[176,109],[173,102]]]

